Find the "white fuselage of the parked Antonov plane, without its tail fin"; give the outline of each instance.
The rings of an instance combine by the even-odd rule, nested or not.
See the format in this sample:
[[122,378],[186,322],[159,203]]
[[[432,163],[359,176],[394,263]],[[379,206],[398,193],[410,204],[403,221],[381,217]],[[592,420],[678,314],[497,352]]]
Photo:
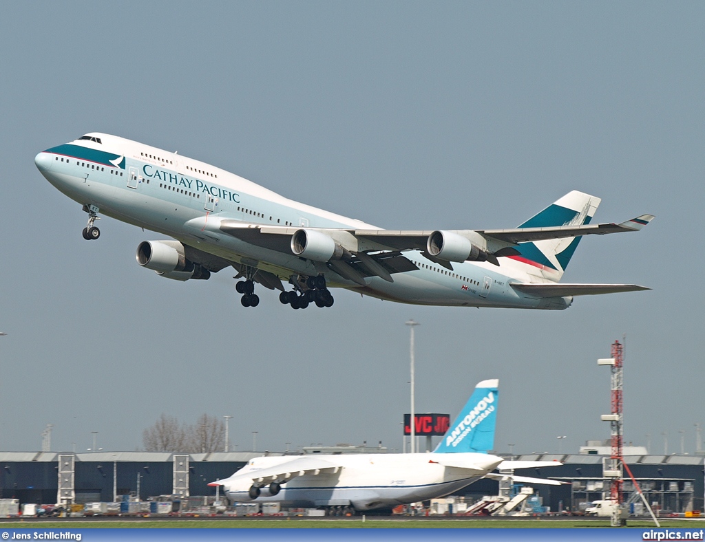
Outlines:
[[[319,469],[282,484],[275,496],[269,493],[269,486],[264,486],[256,500],[278,502],[288,507],[352,505],[356,510],[393,508],[450,495],[481,479],[503,462],[503,458],[486,453],[453,456],[453,460],[467,463],[468,468],[439,464],[438,461],[447,459],[448,454],[317,455],[312,460],[321,463]],[[326,461],[331,465],[327,469]],[[290,455],[255,458],[232,479],[219,480],[211,485],[221,485],[223,493],[233,502],[252,501],[255,500],[249,493],[252,477],[256,477],[258,471],[269,471],[271,467],[288,462],[292,462]],[[315,474],[317,470],[321,472]]]

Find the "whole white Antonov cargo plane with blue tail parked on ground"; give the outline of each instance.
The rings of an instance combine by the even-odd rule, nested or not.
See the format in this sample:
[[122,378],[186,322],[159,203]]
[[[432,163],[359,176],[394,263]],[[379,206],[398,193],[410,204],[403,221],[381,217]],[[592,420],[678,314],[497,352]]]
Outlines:
[[[512,472],[560,462],[510,461],[487,453],[494,448],[497,387],[498,380],[477,384],[433,453],[264,456],[250,460],[230,478],[208,485],[222,486],[231,502],[351,506],[359,512],[443,497],[481,478],[560,485]],[[501,472],[494,473],[495,469]]]

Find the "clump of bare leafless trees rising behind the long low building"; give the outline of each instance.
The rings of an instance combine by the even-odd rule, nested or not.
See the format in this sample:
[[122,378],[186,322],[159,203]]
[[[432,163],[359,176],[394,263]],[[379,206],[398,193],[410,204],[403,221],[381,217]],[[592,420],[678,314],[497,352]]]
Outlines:
[[195,424],[187,425],[162,413],[152,427],[142,431],[142,443],[147,452],[218,452],[225,446],[225,422],[203,414]]

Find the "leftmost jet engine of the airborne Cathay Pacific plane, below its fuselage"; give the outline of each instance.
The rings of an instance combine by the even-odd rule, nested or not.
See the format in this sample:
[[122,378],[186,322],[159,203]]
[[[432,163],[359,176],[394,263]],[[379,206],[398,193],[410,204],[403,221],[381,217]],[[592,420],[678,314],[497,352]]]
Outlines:
[[211,272],[186,259],[185,248],[178,241],[142,241],[137,246],[137,263],[173,280],[207,280]]

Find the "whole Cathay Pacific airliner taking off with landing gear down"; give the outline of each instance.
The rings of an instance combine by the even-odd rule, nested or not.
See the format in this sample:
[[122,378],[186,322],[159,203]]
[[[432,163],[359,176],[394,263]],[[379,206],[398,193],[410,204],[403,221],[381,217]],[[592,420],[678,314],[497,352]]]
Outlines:
[[[514,229],[400,231],[284,198],[176,152],[86,134],[37,154],[42,175],[88,213],[172,239],[143,241],[137,263],[168,279],[208,279],[234,267],[242,304],[255,282],[281,303],[333,305],[329,286],[417,305],[565,309],[573,296],[644,290],[636,284],[559,284],[581,236],[635,232],[654,217],[589,225],[600,199],[572,191]],[[286,291],[283,282],[292,286]]]

